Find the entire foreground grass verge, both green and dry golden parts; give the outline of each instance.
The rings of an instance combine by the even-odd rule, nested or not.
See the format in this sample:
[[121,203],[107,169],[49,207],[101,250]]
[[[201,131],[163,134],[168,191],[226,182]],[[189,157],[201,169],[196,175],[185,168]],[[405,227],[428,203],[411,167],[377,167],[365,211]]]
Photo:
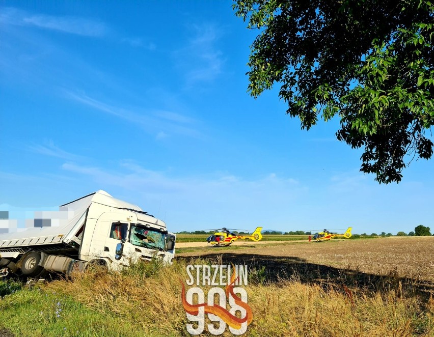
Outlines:
[[[32,289],[0,282],[3,289],[15,287],[0,300],[0,331],[7,328],[24,337],[189,336],[180,297],[187,263],[224,261],[222,256],[172,266],[151,261],[121,273],[95,268]],[[328,279],[324,287],[325,281],[306,282],[297,273],[272,280],[267,268],[253,266],[244,287],[253,311],[247,336],[434,335],[434,300],[399,279],[376,289]],[[201,288],[206,294],[208,287]],[[231,334],[226,330],[223,335]]]

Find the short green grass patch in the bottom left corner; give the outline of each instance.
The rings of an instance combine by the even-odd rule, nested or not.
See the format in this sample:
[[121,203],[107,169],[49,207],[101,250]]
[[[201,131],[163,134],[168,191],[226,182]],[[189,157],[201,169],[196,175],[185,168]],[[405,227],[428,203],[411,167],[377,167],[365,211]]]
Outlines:
[[126,319],[91,310],[56,292],[2,280],[0,292],[0,330],[7,329],[17,337],[144,335]]

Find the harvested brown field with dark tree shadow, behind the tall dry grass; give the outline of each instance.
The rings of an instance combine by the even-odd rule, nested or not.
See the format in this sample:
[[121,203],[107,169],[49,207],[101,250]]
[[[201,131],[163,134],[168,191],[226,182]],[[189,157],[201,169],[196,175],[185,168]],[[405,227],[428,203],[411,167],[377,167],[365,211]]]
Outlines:
[[247,264],[249,268],[263,268],[268,280],[281,277],[300,277],[309,282],[333,279],[334,283],[345,280],[366,286],[384,283],[385,277],[393,277],[406,285],[423,284],[434,289],[434,237],[255,242],[245,247],[184,248],[176,257]]

